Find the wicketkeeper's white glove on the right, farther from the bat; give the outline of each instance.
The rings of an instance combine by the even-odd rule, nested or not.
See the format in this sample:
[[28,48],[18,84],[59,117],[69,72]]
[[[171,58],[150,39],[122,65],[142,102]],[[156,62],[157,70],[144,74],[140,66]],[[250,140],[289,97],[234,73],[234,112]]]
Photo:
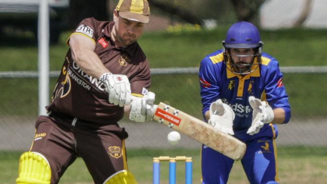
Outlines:
[[265,123],[271,123],[274,119],[273,109],[265,102],[255,97],[249,97],[249,103],[253,109],[252,124],[248,134],[254,135],[260,131]]

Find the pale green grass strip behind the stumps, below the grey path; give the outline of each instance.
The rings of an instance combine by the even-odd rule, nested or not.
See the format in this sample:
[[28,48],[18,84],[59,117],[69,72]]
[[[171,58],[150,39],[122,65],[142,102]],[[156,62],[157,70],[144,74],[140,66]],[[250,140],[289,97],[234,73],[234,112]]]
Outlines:
[[[312,151],[314,150],[314,151]],[[137,181],[152,183],[152,158],[159,155],[186,155],[193,158],[193,183],[200,183],[201,162],[197,149],[128,150],[128,166]],[[20,152],[0,152],[0,182],[14,183]],[[177,163],[177,183],[183,183],[184,163]],[[278,171],[281,183],[324,183],[327,179],[327,147],[278,147]],[[168,183],[168,163],[162,162],[161,183]],[[83,160],[78,158],[64,173],[60,183],[93,183]],[[249,183],[239,161],[234,163],[228,183]]]

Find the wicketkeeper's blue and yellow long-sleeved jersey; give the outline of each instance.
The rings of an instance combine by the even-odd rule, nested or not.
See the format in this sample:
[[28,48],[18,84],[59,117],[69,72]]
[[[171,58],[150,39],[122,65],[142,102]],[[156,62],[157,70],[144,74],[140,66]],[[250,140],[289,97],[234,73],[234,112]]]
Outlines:
[[[285,121],[290,119],[290,105],[282,82],[278,61],[267,53],[262,53],[259,67],[241,76],[229,71],[224,62],[223,50],[207,55],[200,65],[199,80],[202,98],[202,113],[209,111],[210,104],[221,99],[235,113],[233,129],[246,130],[252,123],[252,108],[249,97],[267,101],[275,108],[285,111]],[[256,66],[253,66],[256,67]]]

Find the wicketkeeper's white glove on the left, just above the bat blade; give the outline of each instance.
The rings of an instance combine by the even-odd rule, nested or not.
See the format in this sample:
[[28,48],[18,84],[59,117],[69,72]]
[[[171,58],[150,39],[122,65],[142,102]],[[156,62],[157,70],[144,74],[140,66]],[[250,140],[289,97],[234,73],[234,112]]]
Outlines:
[[210,105],[210,119],[208,123],[215,129],[226,134],[234,135],[233,120],[235,114],[233,110],[227,105],[222,103],[220,99]]

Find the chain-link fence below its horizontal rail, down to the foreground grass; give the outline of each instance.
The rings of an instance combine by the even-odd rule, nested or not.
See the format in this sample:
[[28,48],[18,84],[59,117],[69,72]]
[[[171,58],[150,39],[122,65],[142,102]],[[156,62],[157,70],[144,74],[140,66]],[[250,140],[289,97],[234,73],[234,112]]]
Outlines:
[[[278,125],[279,145],[326,146],[327,66],[281,67],[292,109],[291,121]],[[152,69],[156,103],[163,102],[202,119],[198,68]],[[50,72],[50,91],[57,71]],[[34,136],[38,112],[37,72],[1,72],[0,150],[28,150]],[[134,123],[124,118],[120,126],[129,133],[128,148],[199,148],[200,143],[184,135],[178,145],[166,139],[172,129],[156,122]]]

